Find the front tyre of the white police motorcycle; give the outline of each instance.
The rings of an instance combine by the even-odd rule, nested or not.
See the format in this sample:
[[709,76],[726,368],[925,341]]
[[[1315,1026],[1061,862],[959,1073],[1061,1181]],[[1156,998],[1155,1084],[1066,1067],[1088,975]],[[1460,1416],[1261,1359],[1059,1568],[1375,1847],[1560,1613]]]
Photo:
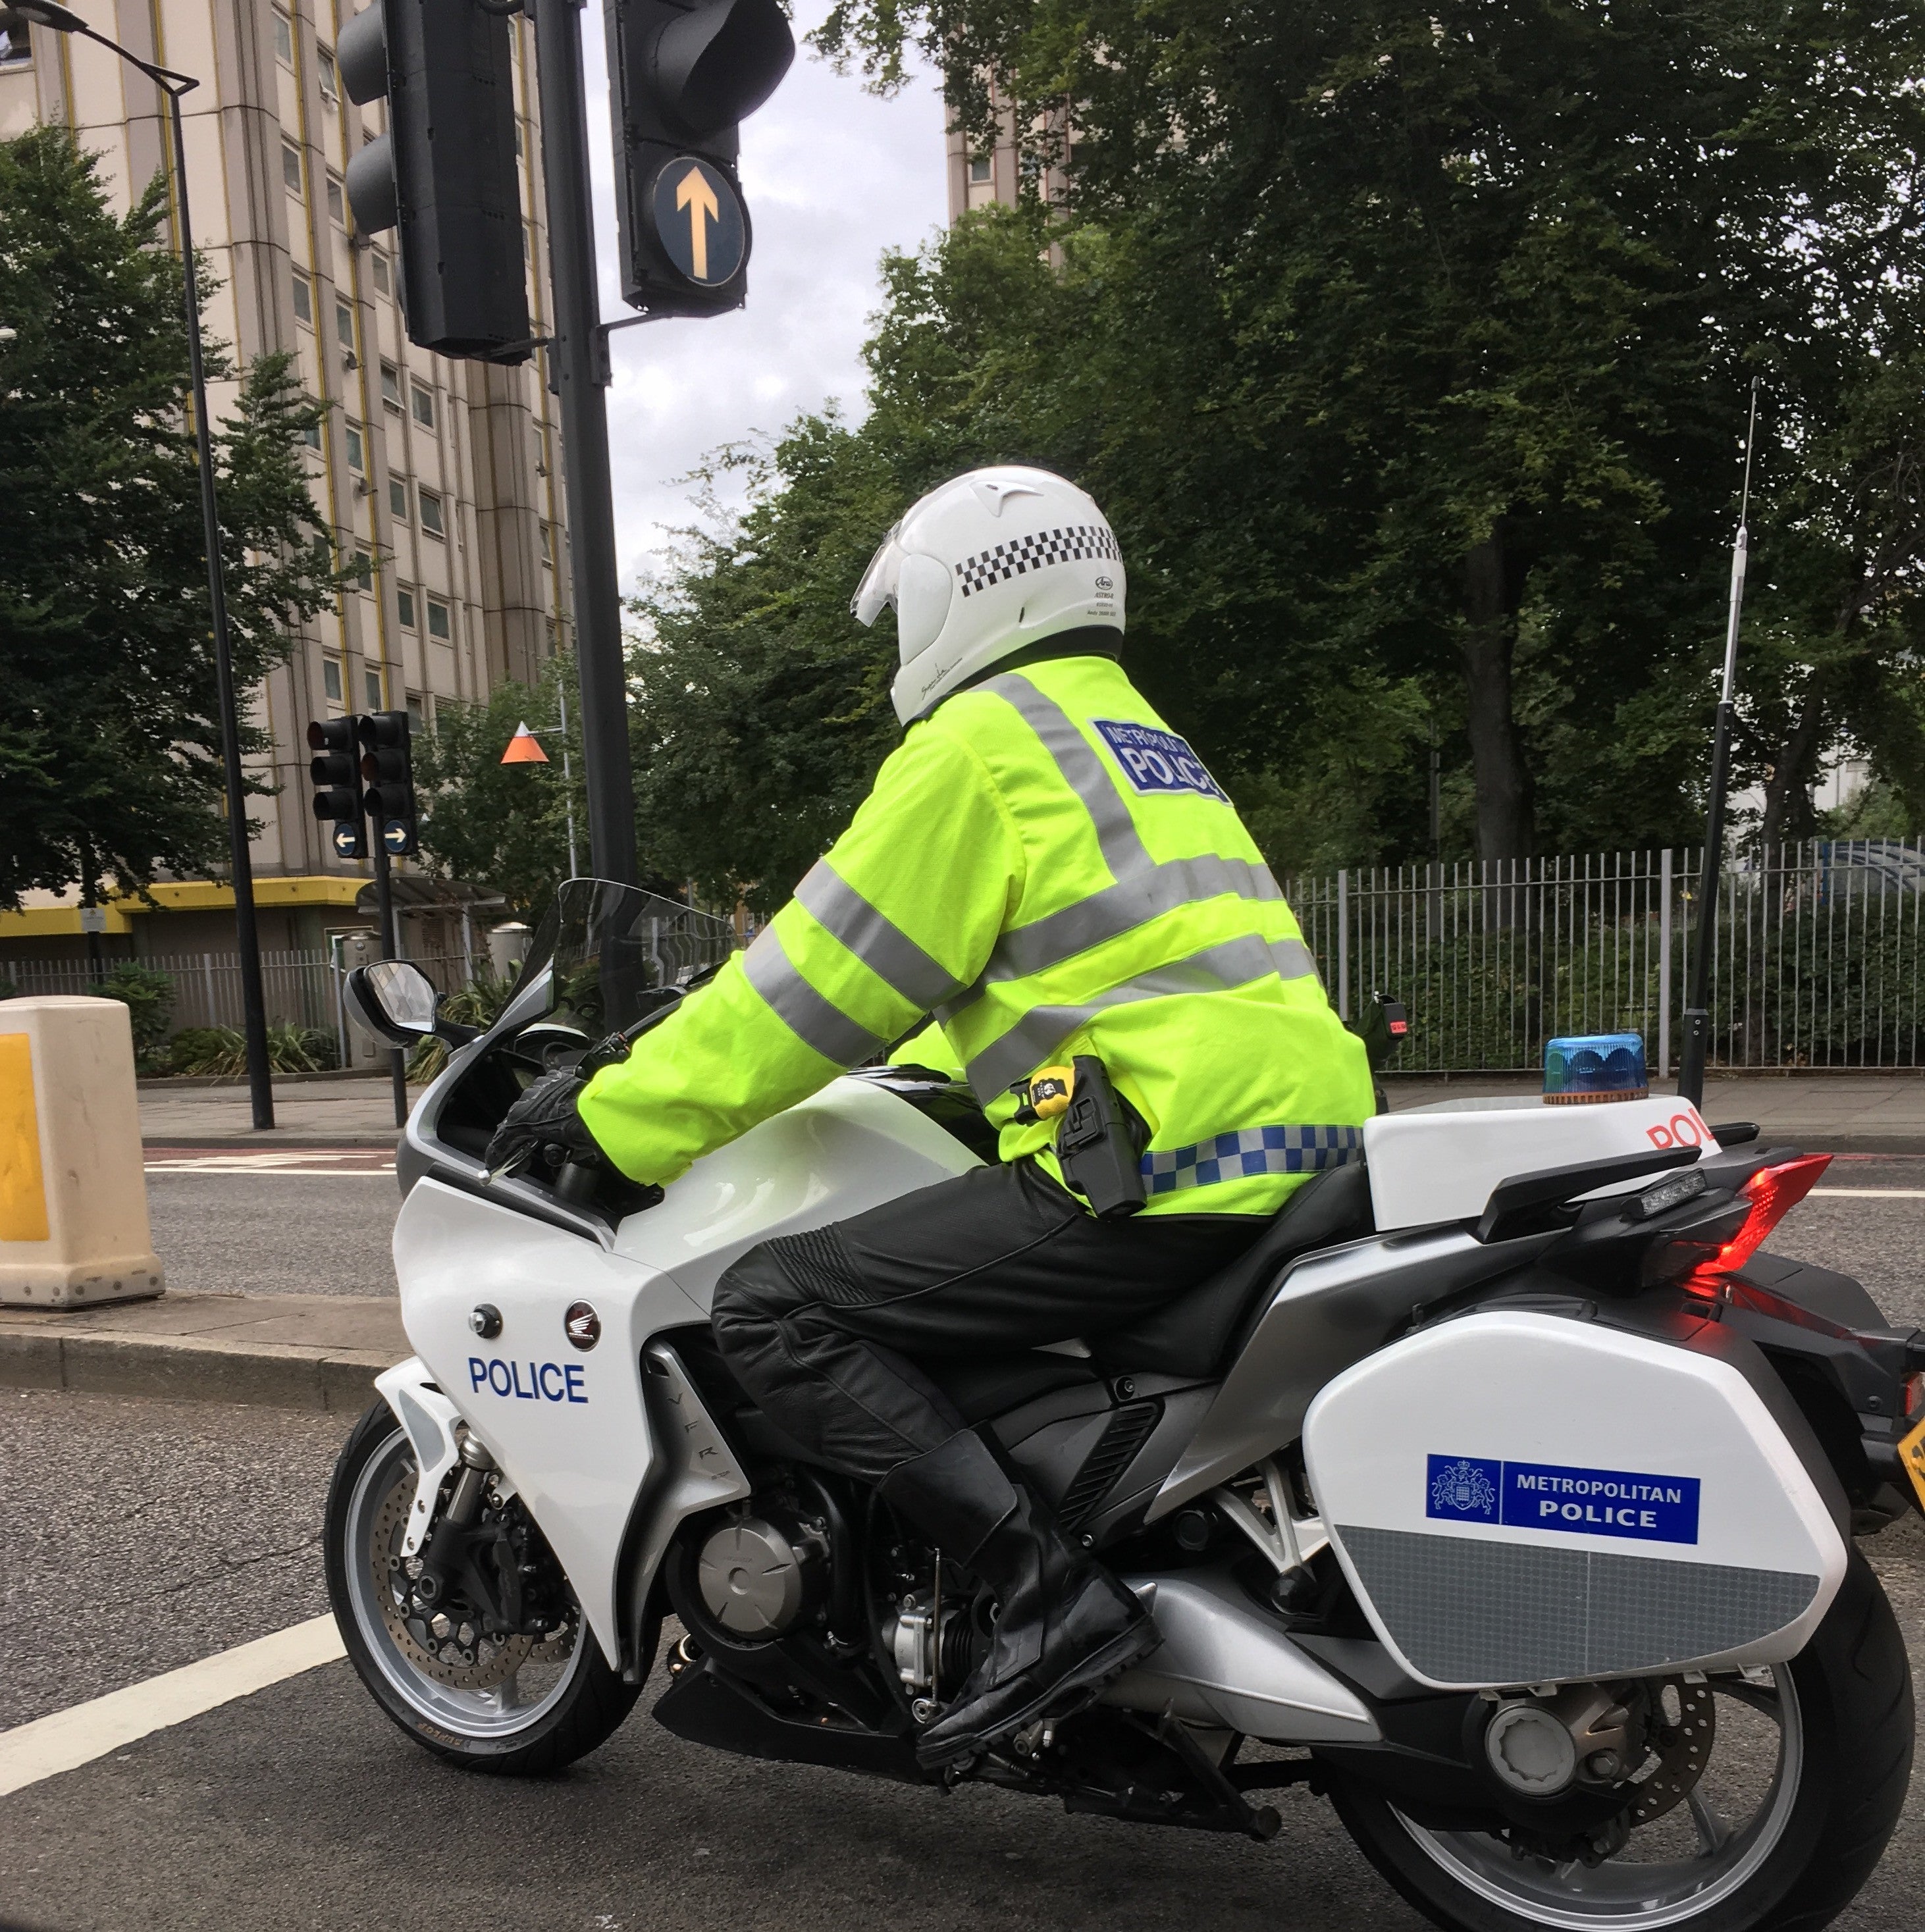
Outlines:
[[[398,1542],[408,1505],[402,1501],[396,1517],[390,1499],[412,1497],[414,1468],[414,1449],[394,1410],[377,1401],[340,1451],[327,1497],[327,1594],[348,1662],[423,1750],[497,1777],[559,1772],[607,1743],[634,1710],[642,1687],[624,1685],[609,1667],[580,1613],[566,1658],[545,1660],[532,1687],[520,1683],[526,1665],[479,1689],[464,1679],[485,1679],[485,1667],[437,1669],[439,1658],[429,1658],[404,1619],[381,1609],[387,1565],[377,1563],[377,1546],[385,1557]],[[481,1654],[475,1644],[474,1656]],[[646,1675],[649,1660],[642,1662]]]

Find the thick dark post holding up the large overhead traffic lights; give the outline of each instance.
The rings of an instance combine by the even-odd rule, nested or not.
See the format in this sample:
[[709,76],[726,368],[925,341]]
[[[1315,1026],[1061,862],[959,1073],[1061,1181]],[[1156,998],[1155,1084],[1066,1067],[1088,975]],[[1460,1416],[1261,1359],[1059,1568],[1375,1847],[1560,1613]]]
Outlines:
[[603,879],[636,883],[636,794],[628,769],[622,607],[615,568],[609,479],[607,344],[599,336],[595,220],[588,191],[588,108],[580,0],[533,0],[541,85],[541,164],[549,199],[555,336],[549,381],[560,398],[568,529],[574,556],[576,668],[582,678],[582,759],[588,854]]

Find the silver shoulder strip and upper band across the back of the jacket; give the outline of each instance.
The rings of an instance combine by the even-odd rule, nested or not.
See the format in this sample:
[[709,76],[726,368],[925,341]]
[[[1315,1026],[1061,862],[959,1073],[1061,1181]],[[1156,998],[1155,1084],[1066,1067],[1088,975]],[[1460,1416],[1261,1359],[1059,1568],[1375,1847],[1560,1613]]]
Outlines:
[[[1123,794],[1069,713],[1017,672],[990,678],[980,688],[1013,705],[1055,759],[1063,782],[1082,800],[1096,825],[1096,840],[1104,864],[1115,875],[1115,885],[1106,885],[1071,906],[1003,933],[990,954],[990,964],[984,966],[976,981],[937,1014],[943,1024],[972,1007],[993,981],[1020,980],[1032,972],[1061,966],[1078,952],[1088,952],[1090,947],[1100,947],[1109,939],[1121,939],[1179,906],[1194,906],[1225,893],[1258,902],[1281,902],[1283,889],[1262,860],[1252,864],[1241,858],[1220,858],[1214,852],[1164,860],[1162,864],[1152,860]],[[1308,949],[1301,941],[1287,943],[1295,947],[1301,964],[1287,970],[1279,966],[1283,978],[1314,976],[1316,962]]]

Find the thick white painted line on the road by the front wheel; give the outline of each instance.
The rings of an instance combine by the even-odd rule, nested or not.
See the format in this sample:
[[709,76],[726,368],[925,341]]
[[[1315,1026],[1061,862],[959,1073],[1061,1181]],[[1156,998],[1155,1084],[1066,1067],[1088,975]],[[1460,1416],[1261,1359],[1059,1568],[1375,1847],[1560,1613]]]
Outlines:
[[205,1712],[253,1696],[286,1677],[300,1677],[321,1663],[344,1658],[332,1617],[311,1617],[251,1644],[236,1644],[199,1663],[164,1671],[126,1690],[108,1690],[50,1718],[0,1731],[0,1797],[37,1785],[43,1777],[79,1770],[153,1731],[186,1723]]

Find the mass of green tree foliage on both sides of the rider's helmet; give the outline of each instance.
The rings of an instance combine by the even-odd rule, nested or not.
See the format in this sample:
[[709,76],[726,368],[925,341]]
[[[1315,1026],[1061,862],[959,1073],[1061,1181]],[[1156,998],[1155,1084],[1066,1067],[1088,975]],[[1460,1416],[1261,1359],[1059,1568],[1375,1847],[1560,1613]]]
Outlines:
[[[1765,408],[1738,786],[1863,746],[1925,804],[1925,14],[1871,0],[843,0],[1067,205],[885,263],[872,410],[758,458],[647,587],[649,837],[779,898],[893,742],[847,616],[926,487],[1104,504],[1127,663],[1279,866],[1681,842]],[[1073,108],[1065,149],[1061,102]],[[740,456],[725,462],[744,462]]]

